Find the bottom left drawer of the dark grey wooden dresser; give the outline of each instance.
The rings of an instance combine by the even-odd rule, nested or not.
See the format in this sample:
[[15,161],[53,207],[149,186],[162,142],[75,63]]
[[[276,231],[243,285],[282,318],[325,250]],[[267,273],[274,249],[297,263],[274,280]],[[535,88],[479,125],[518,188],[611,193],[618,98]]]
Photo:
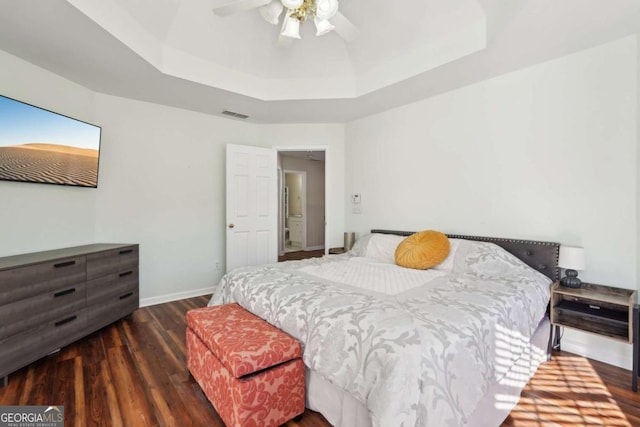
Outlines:
[[40,328],[0,341],[0,377],[84,335],[86,309],[49,320]]

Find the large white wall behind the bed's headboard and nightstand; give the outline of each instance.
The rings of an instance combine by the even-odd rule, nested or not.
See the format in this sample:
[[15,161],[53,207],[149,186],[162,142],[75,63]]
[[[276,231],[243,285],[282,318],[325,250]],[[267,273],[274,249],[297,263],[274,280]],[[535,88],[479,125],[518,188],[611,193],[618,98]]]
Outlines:
[[[636,288],[636,55],[627,37],[348,124],[347,229],[581,245],[584,280]],[[616,344],[563,342],[630,367]]]

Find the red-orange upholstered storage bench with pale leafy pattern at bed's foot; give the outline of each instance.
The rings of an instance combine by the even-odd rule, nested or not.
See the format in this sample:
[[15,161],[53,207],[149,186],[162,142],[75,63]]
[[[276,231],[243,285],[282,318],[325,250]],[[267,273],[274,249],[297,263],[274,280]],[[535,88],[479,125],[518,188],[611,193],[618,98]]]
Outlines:
[[187,366],[228,426],[278,426],[304,412],[300,343],[238,304],[187,312]]

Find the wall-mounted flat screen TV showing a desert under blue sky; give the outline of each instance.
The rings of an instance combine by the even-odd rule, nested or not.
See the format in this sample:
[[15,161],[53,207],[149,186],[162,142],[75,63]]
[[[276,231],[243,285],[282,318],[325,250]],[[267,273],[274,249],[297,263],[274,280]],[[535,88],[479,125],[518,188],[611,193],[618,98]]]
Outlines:
[[96,188],[100,132],[0,95],[0,180]]

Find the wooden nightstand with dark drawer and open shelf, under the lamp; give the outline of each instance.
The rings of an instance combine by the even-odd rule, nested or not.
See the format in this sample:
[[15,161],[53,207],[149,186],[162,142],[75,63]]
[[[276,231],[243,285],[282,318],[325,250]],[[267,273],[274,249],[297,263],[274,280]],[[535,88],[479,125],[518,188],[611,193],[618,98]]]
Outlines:
[[556,282],[551,286],[553,348],[560,349],[560,326],[602,335],[633,344],[631,388],[638,390],[640,356],[639,310],[636,291],[583,283],[574,289]]

